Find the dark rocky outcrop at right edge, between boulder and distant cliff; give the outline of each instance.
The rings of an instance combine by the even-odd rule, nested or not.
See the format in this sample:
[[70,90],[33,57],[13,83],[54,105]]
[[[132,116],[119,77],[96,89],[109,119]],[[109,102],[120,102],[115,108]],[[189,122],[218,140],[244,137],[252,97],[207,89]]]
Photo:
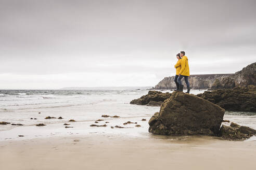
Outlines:
[[225,110],[256,112],[256,86],[205,91],[197,95]]

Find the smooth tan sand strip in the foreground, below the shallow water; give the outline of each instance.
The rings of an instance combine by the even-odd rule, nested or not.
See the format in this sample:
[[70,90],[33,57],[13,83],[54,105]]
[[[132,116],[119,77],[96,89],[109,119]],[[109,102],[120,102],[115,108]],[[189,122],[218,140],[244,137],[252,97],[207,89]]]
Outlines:
[[1,169],[254,169],[256,141],[91,134],[0,141]]

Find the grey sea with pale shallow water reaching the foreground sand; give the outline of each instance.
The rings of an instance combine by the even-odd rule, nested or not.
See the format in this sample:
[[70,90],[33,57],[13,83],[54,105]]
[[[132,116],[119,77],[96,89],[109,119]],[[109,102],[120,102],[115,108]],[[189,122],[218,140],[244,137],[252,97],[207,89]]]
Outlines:
[[[132,100],[146,95],[148,91],[149,87],[0,90],[0,122],[10,122],[6,125],[0,124],[0,141],[90,134],[152,137],[148,132],[148,120],[160,107],[130,104]],[[190,93],[199,94],[204,91],[191,90]],[[119,118],[105,118],[101,117],[102,115]],[[48,116],[56,119],[45,119]],[[59,117],[63,119],[58,119]],[[75,122],[70,122],[71,119]],[[98,119],[101,121],[97,121]],[[224,119],[256,129],[256,114],[252,112],[225,111]],[[124,125],[127,121],[133,123]],[[11,125],[12,123],[23,125]],[[45,126],[36,126],[39,123]],[[63,125],[64,123],[69,125]],[[107,126],[90,126],[92,124]],[[252,137],[248,140],[256,139]]]

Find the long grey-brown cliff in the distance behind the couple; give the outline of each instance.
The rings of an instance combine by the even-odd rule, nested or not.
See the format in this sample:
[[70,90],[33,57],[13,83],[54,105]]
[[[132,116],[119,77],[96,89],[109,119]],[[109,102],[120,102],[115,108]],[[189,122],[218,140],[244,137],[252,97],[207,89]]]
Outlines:
[[[165,77],[152,89],[175,89],[174,77]],[[235,74],[190,75],[190,87],[193,89],[227,89],[237,86],[256,85],[256,63],[252,63]],[[182,79],[184,87],[186,84]]]

